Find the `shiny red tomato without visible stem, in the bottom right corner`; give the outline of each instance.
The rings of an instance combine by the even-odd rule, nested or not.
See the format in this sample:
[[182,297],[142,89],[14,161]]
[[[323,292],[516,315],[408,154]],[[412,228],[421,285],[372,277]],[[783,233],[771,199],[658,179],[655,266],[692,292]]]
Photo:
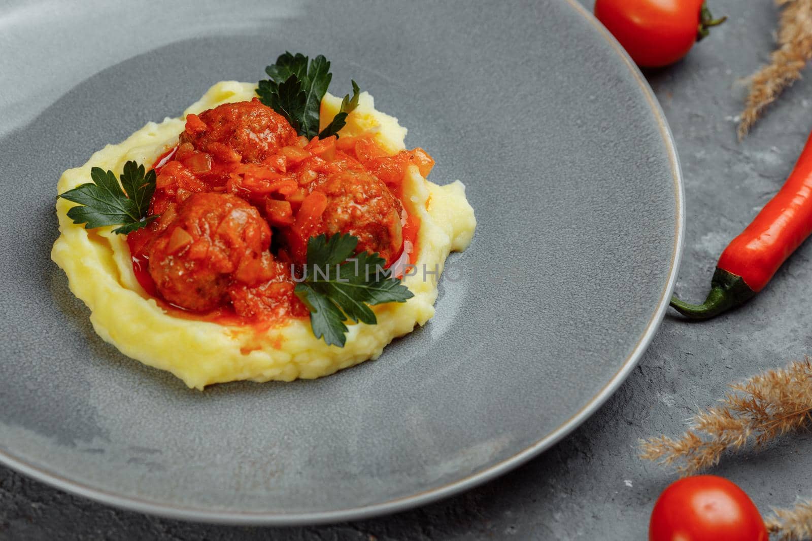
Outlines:
[[672,483],[660,494],[649,541],[767,541],[758,509],[736,484],[715,475]]

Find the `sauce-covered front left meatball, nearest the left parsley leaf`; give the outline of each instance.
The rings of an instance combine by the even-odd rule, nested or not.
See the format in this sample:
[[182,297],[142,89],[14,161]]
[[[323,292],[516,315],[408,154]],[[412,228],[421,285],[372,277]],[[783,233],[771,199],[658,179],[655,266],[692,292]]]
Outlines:
[[192,194],[149,247],[149,275],[168,302],[193,311],[227,302],[234,282],[267,279],[270,228],[236,195]]

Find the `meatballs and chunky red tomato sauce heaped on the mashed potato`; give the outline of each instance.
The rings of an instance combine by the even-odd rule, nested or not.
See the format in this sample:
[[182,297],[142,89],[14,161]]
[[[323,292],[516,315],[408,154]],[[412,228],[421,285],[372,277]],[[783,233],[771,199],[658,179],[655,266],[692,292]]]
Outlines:
[[374,135],[308,140],[257,100],[190,114],[153,164],[158,219],[127,235],[136,280],[174,316],[254,327],[306,317],[292,273],[312,236],[348,233],[387,266],[417,262],[410,165],[425,177],[434,161],[421,148],[390,155]]

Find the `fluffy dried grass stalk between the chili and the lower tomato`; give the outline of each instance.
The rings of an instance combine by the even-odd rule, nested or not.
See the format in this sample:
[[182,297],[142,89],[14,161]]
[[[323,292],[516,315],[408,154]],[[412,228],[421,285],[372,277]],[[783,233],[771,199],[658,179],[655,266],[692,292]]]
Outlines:
[[700,410],[680,438],[641,440],[641,458],[675,466],[683,475],[719,463],[728,450],[753,442],[760,447],[812,420],[812,361],[809,357],[783,369],[732,384],[719,406]]

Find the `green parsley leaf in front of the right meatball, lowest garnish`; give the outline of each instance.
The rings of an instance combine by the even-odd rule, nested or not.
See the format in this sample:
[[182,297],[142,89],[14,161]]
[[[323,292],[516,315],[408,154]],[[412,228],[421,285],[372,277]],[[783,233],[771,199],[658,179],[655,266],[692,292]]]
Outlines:
[[358,238],[350,234],[308,239],[304,281],[294,291],[310,311],[313,335],[328,346],[344,346],[347,320],[378,323],[369,305],[404,303],[414,296],[384,269],[386,260],[377,253],[353,257],[357,245]]

